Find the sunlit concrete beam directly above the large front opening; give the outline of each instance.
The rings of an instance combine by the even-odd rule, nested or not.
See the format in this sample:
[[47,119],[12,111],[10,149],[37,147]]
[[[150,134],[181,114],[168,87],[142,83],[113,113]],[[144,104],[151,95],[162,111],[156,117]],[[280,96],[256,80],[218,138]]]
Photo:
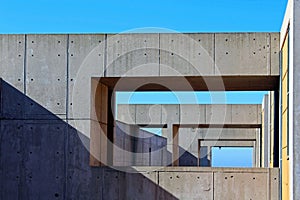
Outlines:
[[107,35],[106,77],[278,76],[279,63],[270,60],[273,49],[279,58],[279,43],[271,37],[279,41],[279,33]]

